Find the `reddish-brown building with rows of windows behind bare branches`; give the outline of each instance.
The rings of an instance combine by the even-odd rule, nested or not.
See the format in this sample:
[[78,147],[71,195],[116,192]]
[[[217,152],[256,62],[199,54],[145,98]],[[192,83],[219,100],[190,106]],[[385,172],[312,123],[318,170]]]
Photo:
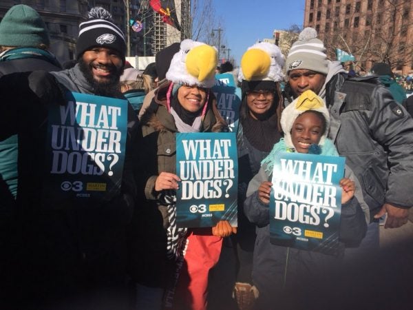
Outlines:
[[386,62],[413,72],[412,0],[306,0],[304,27],[313,27],[335,59],[339,48],[356,58],[357,70]]

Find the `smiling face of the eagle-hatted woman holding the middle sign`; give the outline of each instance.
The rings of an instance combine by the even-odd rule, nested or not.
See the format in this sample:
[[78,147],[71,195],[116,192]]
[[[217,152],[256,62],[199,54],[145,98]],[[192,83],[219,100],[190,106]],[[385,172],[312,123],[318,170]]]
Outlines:
[[182,85],[178,89],[178,101],[189,112],[197,112],[207,102],[207,88]]

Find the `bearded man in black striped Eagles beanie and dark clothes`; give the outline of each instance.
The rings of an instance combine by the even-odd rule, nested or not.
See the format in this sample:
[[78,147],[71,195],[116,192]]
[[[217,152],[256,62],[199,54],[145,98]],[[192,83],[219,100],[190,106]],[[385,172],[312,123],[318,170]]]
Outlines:
[[[126,228],[136,184],[131,145],[138,127],[129,105],[121,189],[110,201],[44,199],[47,112],[65,105],[66,90],[124,99],[119,78],[126,43],[109,12],[92,8],[79,25],[78,63],[59,72],[34,71],[0,79],[0,140],[19,135],[17,234],[10,278],[1,278],[4,309],[127,309]],[[98,40],[99,37],[105,40]],[[47,195],[46,195],[47,196]],[[3,260],[2,262],[3,263]],[[3,266],[1,266],[3,268]],[[6,289],[3,289],[5,287]],[[2,296],[3,297],[3,296]]]

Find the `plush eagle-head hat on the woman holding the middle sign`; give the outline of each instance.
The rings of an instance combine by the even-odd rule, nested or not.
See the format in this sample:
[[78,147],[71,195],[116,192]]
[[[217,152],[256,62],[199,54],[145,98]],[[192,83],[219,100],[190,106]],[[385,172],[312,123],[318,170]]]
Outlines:
[[210,88],[215,84],[218,64],[216,48],[202,42],[185,39],[171,60],[166,74],[173,83]]

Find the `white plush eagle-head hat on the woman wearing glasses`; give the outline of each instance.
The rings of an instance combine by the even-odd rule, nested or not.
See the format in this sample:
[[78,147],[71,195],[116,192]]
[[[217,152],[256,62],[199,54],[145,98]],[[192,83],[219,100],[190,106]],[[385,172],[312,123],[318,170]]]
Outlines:
[[284,56],[275,44],[261,42],[252,45],[241,59],[238,80],[283,81]]

